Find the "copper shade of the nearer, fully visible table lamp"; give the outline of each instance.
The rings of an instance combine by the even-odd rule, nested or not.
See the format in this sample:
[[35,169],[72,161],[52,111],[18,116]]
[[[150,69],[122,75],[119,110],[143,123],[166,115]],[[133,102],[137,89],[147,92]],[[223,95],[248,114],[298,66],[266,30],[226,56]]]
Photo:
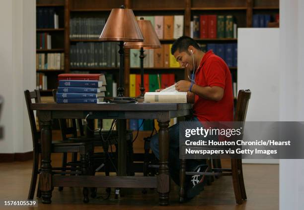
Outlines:
[[112,9],[99,41],[143,42],[143,34],[132,9]]

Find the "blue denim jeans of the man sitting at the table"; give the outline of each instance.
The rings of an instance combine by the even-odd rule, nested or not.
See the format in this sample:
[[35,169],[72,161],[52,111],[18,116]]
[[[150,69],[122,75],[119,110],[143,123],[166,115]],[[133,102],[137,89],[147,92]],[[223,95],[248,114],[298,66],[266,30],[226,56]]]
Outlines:
[[[188,119],[186,121],[199,121],[197,117]],[[169,157],[168,157],[168,167],[169,173],[173,181],[179,185],[179,169],[180,169],[180,159],[179,159],[179,123],[171,126],[169,129]],[[159,144],[158,144],[158,134],[155,134],[150,139],[150,147],[155,157],[159,159]],[[187,159],[187,171],[193,171],[198,165],[206,164],[205,159]]]

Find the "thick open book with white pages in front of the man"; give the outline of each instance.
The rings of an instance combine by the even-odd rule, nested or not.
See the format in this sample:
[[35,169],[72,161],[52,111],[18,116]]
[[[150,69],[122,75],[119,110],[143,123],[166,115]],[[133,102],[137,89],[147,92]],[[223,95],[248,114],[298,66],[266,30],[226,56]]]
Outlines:
[[174,84],[160,92],[147,92],[144,103],[187,103],[187,92],[178,92]]

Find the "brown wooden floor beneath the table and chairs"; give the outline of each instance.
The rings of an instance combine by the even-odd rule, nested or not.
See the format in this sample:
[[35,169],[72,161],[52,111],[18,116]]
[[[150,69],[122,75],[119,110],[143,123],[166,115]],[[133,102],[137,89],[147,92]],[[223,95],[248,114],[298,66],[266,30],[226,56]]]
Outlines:
[[[52,156],[52,164],[60,165],[60,155]],[[25,200],[31,178],[32,162],[0,163],[0,200]],[[224,165],[227,164],[224,161]],[[125,196],[114,199],[114,190],[108,200],[105,189],[97,191],[99,198],[90,199],[88,204],[82,203],[80,188],[65,188],[62,192],[55,188],[52,204],[44,205],[38,199],[35,210],[106,210],[116,209],[166,209],[166,210],[278,210],[279,209],[279,166],[244,164],[244,179],[248,200],[242,205],[236,205],[232,190],[231,178],[221,177],[211,186],[206,186],[192,201],[186,204],[178,203],[178,187],[172,183],[170,206],[159,207],[155,190],[142,194],[142,189],[125,189]],[[0,207],[0,209],[4,209]],[[10,208],[11,209],[11,208]],[[27,209],[27,208],[18,208]],[[28,208],[30,209],[30,208]]]

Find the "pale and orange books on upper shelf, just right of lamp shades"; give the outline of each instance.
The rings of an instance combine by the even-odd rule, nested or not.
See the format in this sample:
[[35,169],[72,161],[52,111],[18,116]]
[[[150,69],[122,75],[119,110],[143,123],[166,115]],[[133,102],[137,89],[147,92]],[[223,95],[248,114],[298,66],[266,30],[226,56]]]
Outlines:
[[184,35],[184,15],[136,16],[150,20],[158,39],[177,39]]

